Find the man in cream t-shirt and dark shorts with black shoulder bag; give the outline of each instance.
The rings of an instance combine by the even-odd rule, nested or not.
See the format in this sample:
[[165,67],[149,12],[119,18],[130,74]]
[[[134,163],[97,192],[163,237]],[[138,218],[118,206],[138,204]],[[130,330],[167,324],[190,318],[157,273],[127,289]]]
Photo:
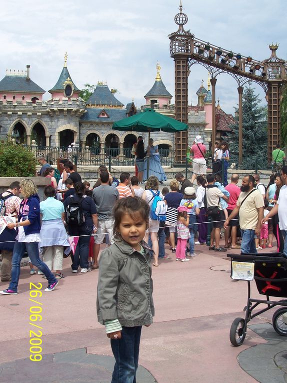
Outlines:
[[[207,174],[206,176],[207,187],[206,187],[206,205],[207,210],[209,207],[218,207],[219,214],[216,216],[212,216],[212,231],[210,233],[210,246],[209,250],[214,251],[226,251],[223,247],[219,246],[220,240],[220,230],[223,227],[223,223],[225,220],[225,216],[221,207],[220,198],[223,198],[226,202],[228,202],[228,197],[226,197],[215,185],[215,177],[213,174]],[[215,241],[215,246],[213,242]]]

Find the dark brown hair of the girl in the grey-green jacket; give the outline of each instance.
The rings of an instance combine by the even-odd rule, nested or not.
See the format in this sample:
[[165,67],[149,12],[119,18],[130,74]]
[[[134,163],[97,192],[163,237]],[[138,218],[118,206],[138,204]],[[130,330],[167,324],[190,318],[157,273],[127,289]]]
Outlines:
[[128,214],[132,219],[138,220],[138,215],[145,221],[146,228],[148,227],[149,206],[139,197],[126,197],[119,199],[113,208],[113,235],[120,237],[118,228],[121,222],[121,218],[124,214]]

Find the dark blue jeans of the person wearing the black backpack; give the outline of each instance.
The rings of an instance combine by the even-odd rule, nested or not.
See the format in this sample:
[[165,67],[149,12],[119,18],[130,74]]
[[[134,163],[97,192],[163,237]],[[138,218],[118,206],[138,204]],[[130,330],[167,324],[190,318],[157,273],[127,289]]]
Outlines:
[[69,226],[68,232],[69,232],[69,235],[72,237],[79,235],[75,252],[73,256],[71,257],[72,270],[77,270],[78,266],[80,266],[81,269],[87,269],[88,268],[88,264],[87,264],[88,248],[89,248],[90,234],[92,233],[92,226],[82,226],[80,230],[78,229],[77,226],[75,227]]

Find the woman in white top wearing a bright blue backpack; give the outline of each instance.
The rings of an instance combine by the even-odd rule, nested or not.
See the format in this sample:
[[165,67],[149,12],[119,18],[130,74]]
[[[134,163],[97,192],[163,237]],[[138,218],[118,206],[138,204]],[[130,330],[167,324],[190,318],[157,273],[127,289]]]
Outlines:
[[[149,213],[149,223],[148,223],[148,231],[150,233],[150,240],[152,243],[152,250],[153,250],[153,263],[152,265],[157,267],[158,266],[158,240],[157,240],[157,232],[159,229],[159,221],[166,219],[166,216],[164,215],[166,213],[167,206],[165,202],[163,201],[163,195],[158,190],[159,188],[159,181],[155,176],[148,177],[146,184],[145,184],[145,190],[142,194],[142,199],[147,202],[147,204],[150,207],[150,213]],[[156,207],[157,205],[159,207],[159,211],[156,213]],[[163,206],[166,206],[166,209],[164,211]],[[159,214],[159,215],[158,215]],[[148,241],[148,232],[145,237],[145,241]]]

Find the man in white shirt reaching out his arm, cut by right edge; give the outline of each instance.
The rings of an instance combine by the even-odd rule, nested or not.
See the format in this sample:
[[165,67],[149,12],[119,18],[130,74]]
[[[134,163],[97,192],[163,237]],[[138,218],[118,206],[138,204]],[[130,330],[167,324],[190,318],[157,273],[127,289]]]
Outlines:
[[278,213],[279,217],[279,229],[282,232],[284,243],[284,256],[287,257],[287,166],[283,166],[281,169],[281,180],[284,185],[280,189],[279,196],[277,197],[277,203],[272,210],[262,219],[262,224],[266,222],[273,215]]

